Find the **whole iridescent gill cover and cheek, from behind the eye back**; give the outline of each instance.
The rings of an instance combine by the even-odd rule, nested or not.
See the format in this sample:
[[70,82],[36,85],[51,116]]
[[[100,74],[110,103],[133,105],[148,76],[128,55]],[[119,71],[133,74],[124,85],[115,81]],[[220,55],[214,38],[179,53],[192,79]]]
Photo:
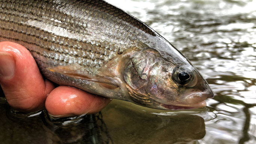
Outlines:
[[167,103],[175,96],[177,85],[171,80],[174,65],[166,62],[156,50],[143,49],[131,57],[124,71],[124,79],[131,99],[140,105]]

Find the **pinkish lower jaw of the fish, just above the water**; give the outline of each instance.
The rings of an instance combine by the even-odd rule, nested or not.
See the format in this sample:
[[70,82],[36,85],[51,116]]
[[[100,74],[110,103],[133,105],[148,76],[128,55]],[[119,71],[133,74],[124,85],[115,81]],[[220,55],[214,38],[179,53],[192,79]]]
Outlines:
[[168,110],[184,110],[184,109],[193,109],[193,108],[204,108],[206,107],[206,102],[202,101],[197,104],[189,104],[189,105],[167,105],[161,104],[162,107]]

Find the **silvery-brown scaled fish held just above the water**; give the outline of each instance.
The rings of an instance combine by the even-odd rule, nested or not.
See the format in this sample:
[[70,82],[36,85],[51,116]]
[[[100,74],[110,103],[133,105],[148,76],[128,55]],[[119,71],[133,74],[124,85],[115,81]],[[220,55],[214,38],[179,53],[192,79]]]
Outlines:
[[0,41],[29,49],[48,80],[95,95],[160,110],[214,96],[170,42],[104,0],[0,0]]

